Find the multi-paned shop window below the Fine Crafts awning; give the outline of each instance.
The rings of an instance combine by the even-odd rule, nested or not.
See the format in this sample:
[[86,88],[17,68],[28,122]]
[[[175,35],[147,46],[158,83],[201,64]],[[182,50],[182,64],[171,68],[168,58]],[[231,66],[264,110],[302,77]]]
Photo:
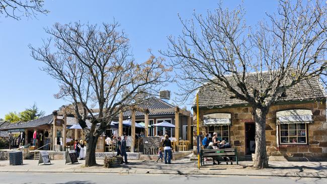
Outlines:
[[305,123],[280,125],[280,144],[307,144]]

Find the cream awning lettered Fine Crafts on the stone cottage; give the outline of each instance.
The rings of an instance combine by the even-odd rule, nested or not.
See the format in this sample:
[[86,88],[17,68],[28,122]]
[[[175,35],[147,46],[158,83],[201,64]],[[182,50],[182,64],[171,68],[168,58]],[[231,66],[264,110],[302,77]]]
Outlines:
[[313,123],[311,110],[287,110],[276,112],[276,124]]

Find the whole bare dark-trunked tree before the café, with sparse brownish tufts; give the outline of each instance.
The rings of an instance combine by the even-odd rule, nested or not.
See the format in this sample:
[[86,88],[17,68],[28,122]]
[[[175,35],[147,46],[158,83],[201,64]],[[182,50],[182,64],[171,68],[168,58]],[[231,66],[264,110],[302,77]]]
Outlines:
[[[139,97],[157,94],[170,78],[163,58],[151,54],[147,61],[136,62],[126,34],[118,27],[116,22],[101,26],[57,23],[45,29],[51,38],[41,48],[30,46],[32,57],[45,63],[43,70],[60,83],[55,97],[74,105],[87,135],[86,166],[96,164],[98,137],[119,112],[144,100]],[[94,107],[99,113],[93,113]]]

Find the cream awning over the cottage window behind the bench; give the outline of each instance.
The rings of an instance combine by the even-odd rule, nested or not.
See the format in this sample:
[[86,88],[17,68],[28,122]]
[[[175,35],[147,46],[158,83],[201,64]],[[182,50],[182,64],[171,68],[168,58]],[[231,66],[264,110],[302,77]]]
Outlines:
[[204,126],[227,126],[230,125],[229,113],[213,113],[203,115]]

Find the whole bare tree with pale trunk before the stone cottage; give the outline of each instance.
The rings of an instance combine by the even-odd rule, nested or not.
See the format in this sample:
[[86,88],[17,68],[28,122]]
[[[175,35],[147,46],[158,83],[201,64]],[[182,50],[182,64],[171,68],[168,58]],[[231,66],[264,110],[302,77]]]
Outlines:
[[[194,13],[190,21],[180,18],[183,34],[169,37],[169,48],[162,52],[180,71],[185,100],[202,87],[212,87],[253,108],[254,167],[268,167],[269,108],[287,95],[288,88],[326,69],[326,6],[322,4],[279,1],[277,13],[267,14],[268,21],[255,29],[246,25],[242,6],[230,11],[219,4],[205,16]],[[255,82],[249,77],[255,77]]]

